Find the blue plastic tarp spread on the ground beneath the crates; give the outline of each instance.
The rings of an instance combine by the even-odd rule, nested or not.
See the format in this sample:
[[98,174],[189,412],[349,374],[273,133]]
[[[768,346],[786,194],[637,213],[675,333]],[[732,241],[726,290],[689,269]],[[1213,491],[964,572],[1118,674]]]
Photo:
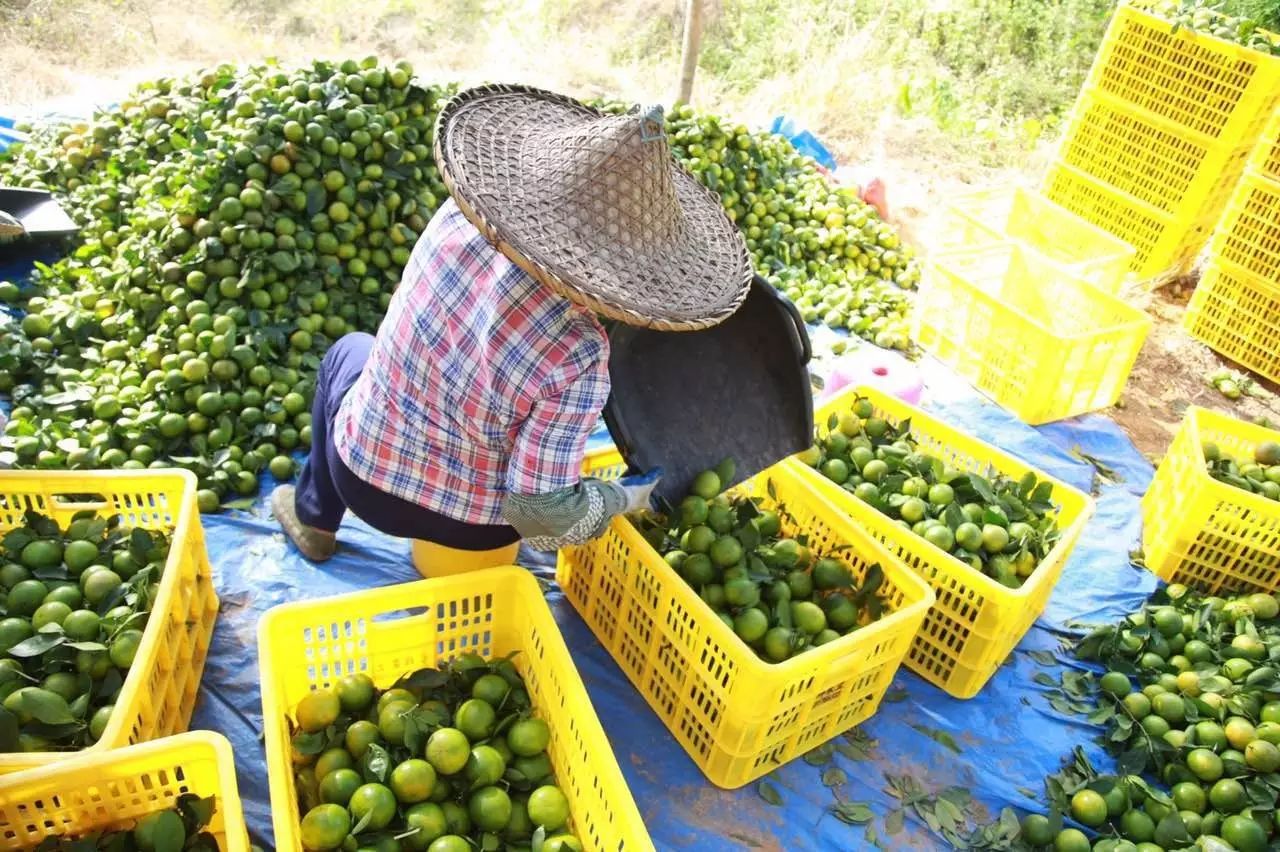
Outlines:
[[[15,276],[22,270],[6,271]],[[822,351],[831,333],[813,331],[815,349]],[[1085,745],[1100,768],[1111,765],[1091,742],[1094,729],[1050,706],[1046,690],[1033,681],[1043,667],[1032,652],[1051,652],[1060,664],[1078,665],[1060,651],[1061,637],[1071,626],[1119,618],[1138,608],[1156,586],[1153,576],[1129,564],[1129,551],[1139,537],[1138,499],[1152,468],[1114,422],[1088,416],[1032,429],[943,367],[924,361],[920,368],[925,408],[1071,485],[1085,490],[1097,486],[1097,513],[1043,617],[977,698],[950,698],[902,670],[890,691],[893,700],[861,725],[877,742],[872,759],[852,762],[838,753],[833,757],[849,778],[840,797],[869,803],[881,838],[886,838],[884,819],[896,807],[886,792],[886,773],[910,774],[925,789],[968,787],[980,815],[993,819],[1005,806],[1042,809],[1044,777],[1056,771],[1076,745]],[[607,441],[600,430],[593,444]],[[1085,457],[1101,462],[1111,478],[1098,480]],[[265,509],[265,495],[273,486],[268,477],[264,498],[252,510],[204,518],[221,611],[192,722],[193,728],[219,730],[232,741],[250,829],[264,847],[271,846],[273,835],[259,695],[259,618],[285,601],[417,578],[404,541],[360,522],[343,526],[342,548],[333,560],[307,563],[287,545]],[[553,576],[545,556],[525,553],[521,562],[544,577]],[[863,828],[831,815],[836,798],[823,785],[822,770],[801,760],[769,775],[781,806],[767,803],[754,784],[739,791],[710,785],[563,596],[552,591],[549,603],[659,849],[869,847]],[[888,838],[887,844],[943,848],[910,816],[904,834]]]

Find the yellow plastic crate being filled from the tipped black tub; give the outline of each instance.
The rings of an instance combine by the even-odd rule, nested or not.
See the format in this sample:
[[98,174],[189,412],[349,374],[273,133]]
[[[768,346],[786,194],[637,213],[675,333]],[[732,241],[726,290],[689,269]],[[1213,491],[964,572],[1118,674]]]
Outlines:
[[[621,471],[613,453],[586,472]],[[769,484],[774,496],[769,496]],[[859,581],[879,563],[890,613],[771,664],[726,626],[626,518],[562,550],[556,577],[600,643],[712,783],[735,788],[868,719],[879,706],[933,595],[883,545],[776,466],[735,489],[785,504],[787,531],[841,559]],[[776,498],[776,499],[774,499]],[[850,549],[837,551],[842,545]]]

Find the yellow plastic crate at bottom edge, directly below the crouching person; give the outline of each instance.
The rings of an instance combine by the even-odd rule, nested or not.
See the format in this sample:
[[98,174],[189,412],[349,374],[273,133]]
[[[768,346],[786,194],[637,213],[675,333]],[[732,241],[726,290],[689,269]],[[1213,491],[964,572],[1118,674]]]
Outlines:
[[461,654],[513,663],[552,729],[548,755],[588,852],[653,849],[609,741],[532,574],[463,576],[284,604],[259,623],[262,725],[276,849],[301,849],[287,716],[302,696],[364,672],[381,688]]

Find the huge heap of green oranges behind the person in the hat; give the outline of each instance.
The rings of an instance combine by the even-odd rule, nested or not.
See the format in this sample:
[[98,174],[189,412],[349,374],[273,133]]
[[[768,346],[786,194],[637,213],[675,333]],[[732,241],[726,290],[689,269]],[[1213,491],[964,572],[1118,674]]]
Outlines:
[[[291,477],[321,356],[376,330],[448,197],[431,145],[454,91],[374,58],[221,65],[0,154],[0,183],[82,228],[29,285],[0,281],[26,312],[0,312],[0,464],[183,467],[205,512]],[[906,345],[918,265],[855,192],[781,137],[687,106],[667,128],[810,320]]]

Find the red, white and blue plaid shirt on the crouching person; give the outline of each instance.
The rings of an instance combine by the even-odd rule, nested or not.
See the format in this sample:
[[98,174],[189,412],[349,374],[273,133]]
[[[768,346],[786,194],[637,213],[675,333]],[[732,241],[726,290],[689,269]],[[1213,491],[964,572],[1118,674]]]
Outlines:
[[595,317],[493,248],[449,200],[413,248],[334,444],[383,491],[504,523],[507,493],[577,484],[608,359]]

